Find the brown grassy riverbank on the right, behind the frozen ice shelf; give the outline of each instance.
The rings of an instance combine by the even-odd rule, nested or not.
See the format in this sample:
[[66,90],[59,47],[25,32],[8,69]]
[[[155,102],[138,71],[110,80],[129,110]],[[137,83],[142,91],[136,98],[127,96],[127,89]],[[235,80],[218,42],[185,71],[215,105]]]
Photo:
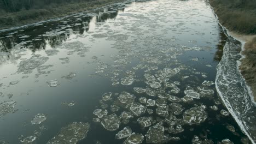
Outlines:
[[242,41],[241,65],[242,76],[253,93],[256,101],[256,1],[209,0],[217,14],[219,22],[226,27],[229,34]]

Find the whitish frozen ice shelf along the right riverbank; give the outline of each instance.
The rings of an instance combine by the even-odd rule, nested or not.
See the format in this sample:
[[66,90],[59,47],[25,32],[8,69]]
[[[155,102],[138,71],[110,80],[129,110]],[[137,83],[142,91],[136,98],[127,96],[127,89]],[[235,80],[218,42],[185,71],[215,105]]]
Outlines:
[[[213,7],[211,8],[212,10],[214,9]],[[217,15],[216,18],[218,19]],[[240,60],[245,57],[242,55],[245,41],[231,35],[228,29],[220,22],[219,25],[223,28],[228,39],[224,46],[222,60],[217,66],[216,89],[219,97],[222,99],[224,105],[229,110],[232,117],[234,117],[243,133],[255,144],[256,131],[253,127],[250,127],[250,125],[255,123],[250,123],[255,119],[253,93],[239,70],[239,66],[241,65]]]

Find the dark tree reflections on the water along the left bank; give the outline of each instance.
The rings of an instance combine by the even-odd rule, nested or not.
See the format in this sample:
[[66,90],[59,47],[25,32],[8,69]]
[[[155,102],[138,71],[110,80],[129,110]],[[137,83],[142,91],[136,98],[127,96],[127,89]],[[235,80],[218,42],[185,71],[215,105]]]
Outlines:
[[[118,15],[118,11],[113,10],[108,13],[105,9],[104,12],[98,11],[96,22],[104,22],[107,19],[114,19]],[[124,10],[124,9],[123,9]],[[72,16],[60,19],[57,21],[50,21],[36,26],[30,26],[20,30],[13,30],[3,32],[0,34],[0,52],[7,52],[11,54],[11,50],[17,46],[19,49],[30,49],[32,52],[37,50],[44,50],[46,45],[55,47],[65,42],[71,34],[84,34],[89,31],[89,23],[92,16]],[[16,33],[14,33],[16,32]],[[10,33],[14,33],[10,35]],[[28,37],[24,37],[27,35]],[[9,37],[7,37],[9,36]],[[8,57],[7,57],[8,58]],[[8,59],[5,59],[8,61]]]

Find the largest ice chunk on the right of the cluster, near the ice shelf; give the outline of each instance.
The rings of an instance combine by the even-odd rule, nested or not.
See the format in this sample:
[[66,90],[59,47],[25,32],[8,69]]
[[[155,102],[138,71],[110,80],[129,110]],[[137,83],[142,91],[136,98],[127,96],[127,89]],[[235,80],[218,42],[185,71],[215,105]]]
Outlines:
[[205,122],[206,118],[205,106],[192,107],[183,113],[184,122],[190,125]]

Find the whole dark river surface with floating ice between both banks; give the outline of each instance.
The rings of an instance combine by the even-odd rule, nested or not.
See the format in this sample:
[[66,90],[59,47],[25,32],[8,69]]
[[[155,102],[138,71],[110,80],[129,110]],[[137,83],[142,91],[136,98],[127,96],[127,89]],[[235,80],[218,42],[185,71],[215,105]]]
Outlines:
[[[201,0],[127,1],[2,32],[0,139],[250,143],[214,86],[225,41]],[[135,134],[115,139],[125,127]]]

